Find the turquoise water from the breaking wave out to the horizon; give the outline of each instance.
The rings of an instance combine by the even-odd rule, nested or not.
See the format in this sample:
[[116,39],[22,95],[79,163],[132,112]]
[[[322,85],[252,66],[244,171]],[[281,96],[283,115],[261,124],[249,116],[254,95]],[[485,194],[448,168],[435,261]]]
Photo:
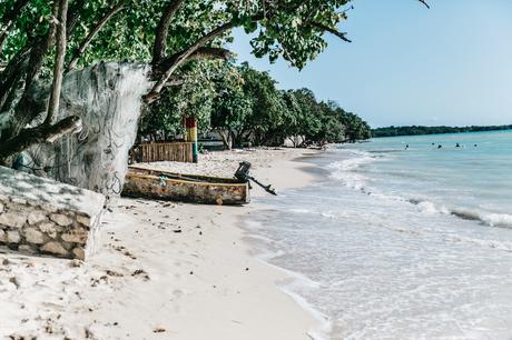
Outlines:
[[338,174],[349,186],[512,227],[512,131],[383,138],[348,149],[354,181]]

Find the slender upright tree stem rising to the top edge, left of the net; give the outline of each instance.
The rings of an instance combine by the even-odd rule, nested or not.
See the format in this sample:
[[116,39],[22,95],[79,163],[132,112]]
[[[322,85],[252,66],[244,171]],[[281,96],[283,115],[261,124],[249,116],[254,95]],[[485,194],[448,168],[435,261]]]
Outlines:
[[[57,0],[56,0],[57,1]],[[53,84],[51,87],[50,102],[48,103],[48,114],[45,124],[51,124],[59,112],[60,89],[62,88],[63,63],[66,57],[66,47],[68,43],[66,36],[68,18],[68,0],[59,1],[57,14],[57,54],[53,64]]]

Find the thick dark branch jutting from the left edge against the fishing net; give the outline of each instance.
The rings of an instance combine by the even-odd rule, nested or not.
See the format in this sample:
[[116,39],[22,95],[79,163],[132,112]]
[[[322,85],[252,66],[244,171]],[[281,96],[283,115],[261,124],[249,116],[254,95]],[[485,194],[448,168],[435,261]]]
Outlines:
[[0,160],[36,144],[52,143],[60,137],[80,129],[81,119],[78,116],[70,116],[53,126],[41,124],[37,128],[22,130],[14,138],[0,144]]

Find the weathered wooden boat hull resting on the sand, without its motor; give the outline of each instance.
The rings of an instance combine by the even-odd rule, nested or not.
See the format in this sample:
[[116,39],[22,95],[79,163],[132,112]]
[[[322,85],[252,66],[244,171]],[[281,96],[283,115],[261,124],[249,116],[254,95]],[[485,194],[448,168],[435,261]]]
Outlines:
[[205,204],[246,204],[249,183],[235,178],[183,174],[131,166],[122,196]]

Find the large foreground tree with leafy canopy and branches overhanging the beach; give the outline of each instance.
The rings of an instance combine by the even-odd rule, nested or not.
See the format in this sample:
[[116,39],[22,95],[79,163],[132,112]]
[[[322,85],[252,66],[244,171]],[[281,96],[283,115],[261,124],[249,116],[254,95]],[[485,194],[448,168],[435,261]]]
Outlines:
[[[237,27],[248,33],[257,31],[252,40],[257,57],[268,56],[272,61],[283,58],[303,68],[326,48],[324,33],[348,41],[337,30],[337,24],[347,18],[348,3],[349,0],[71,0],[68,6],[68,0],[1,1],[0,62],[6,66],[0,74],[0,162],[9,163],[27,148],[79,129],[83,117],[55,117],[55,108],[62,111],[58,99],[61,79],[71,86],[66,81],[68,77],[80,78],[71,72],[73,68],[96,78],[91,81],[111,82],[111,78],[91,72],[105,68],[87,67],[98,60],[147,63],[149,71],[144,74],[152,86],[149,90],[142,81],[132,86],[145,92],[145,104],[151,104],[165,88],[179,83],[189,62],[228,58],[221,46]],[[82,67],[86,68],[80,70]],[[51,89],[43,86],[45,81],[52,83]],[[139,91],[132,92],[139,96]],[[96,152],[101,157],[102,150]]]

